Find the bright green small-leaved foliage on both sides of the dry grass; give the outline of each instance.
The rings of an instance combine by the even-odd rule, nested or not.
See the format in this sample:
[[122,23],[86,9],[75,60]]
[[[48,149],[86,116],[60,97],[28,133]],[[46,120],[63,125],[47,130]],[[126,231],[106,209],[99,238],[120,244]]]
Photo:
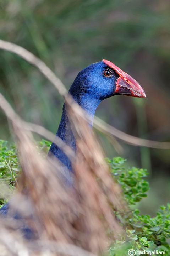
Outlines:
[[[51,142],[39,141],[37,148],[40,154],[47,154]],[[121,215],[123,221],[122,226],[125,230],[124,234],[119,235],[109,249],[109,256],[127,256],[128,250],[135,250],[135,255],[142,252],[151,254],[154,250],[165,252],[170,255],[170,204],[161,206],[155,217],[149,215],[141,215],[136,209],[136,203],[143,197],[149,189],[149,184],[143,178],[147,176],[147,171],[132,167],[125,170],[125,159],[115,157],[112,160],[106,158],[106,162],[110,166],[110,172],[114,179],[121,185],[125,195],[129,211],[125,215]],[[0,184],[9,184],[11,191],[15,189],[18,175],[21,173],[21,165],[16,153],[16,147],[7,147],[7,141],[0,140]],[[1,192],[0,205],[7,202]],[[120,213],[115,213],[120,219]],[[132,251],[134,252],[134,251]],[[152,254],[155,255],[155,254]]]

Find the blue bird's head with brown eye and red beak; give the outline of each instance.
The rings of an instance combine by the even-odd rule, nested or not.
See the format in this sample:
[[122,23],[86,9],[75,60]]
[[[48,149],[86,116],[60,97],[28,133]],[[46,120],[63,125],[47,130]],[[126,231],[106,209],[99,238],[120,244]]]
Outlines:
[[146,97],[142,87],[130,75],[110,61],[103,59],[84,68],[70,88],[73,98],[97,99],[114,95]]

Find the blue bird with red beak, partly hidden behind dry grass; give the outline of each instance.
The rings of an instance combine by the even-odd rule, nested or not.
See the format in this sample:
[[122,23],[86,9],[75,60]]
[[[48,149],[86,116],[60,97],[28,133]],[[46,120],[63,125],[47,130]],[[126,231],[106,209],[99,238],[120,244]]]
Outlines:
[[[144,90],[135,79],[106,59],[93,63],[80,71],[72,83],[68,94],[91,116],[91,122],[89,123],[91,128],[93,126],[95,110],[102,100],[115,95],[146,97]],[[76,151],[76,140],[68,120],[65,103],[56,136],[70,146],[73,151]],[[61,161],[65,166],[65,177],[68,183],[72,183],[71,174],[73,173],[73,168],[71,160],[54,142],[51,144],[48,157],[57,157]],[[0,209],[0,214],[7,216],[8,210],[9,203],[6,203]],[[22,217],[16,213],[13,218],[20,219]],[[22,231],[27,239],[33,236],[32,230],[27,226],[24,226]]]

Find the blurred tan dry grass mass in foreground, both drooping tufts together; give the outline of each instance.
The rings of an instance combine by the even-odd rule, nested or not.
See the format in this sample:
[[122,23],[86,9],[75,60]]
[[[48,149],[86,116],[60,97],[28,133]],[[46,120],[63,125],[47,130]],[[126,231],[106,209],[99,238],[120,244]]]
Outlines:
[[[109,239],[106,231],[110,230],[110,237],[115,237],[121,230],[113,209],[124,209],[124,204],[120,188],[109,176],[108,167],[87,121],[77,115],[77,108],[72,108],[71,103],[68,105],[73,130],[76,131],[77,154],[74,163],[75,184],[74,187],[67,186],[60,174],[62,166],[38,154],[24,122],[2,95],[1,99],[0,105],[12,121],[20,153],[23,173],[19,187],[27,186],[24,192],[27,207],[23,209],[21,201],[25,199],[21,195],[10,203],[9,215],[17,210],[23,218],[21,223],[16,221],[16,225],[10,227],[14,230],[12,232],[17,234],[17,224],[21,229],[24,223],[32,228],[38,241],[74,244],[93,253],[104,251]],[[81,109],[79,111],[81,113]]]

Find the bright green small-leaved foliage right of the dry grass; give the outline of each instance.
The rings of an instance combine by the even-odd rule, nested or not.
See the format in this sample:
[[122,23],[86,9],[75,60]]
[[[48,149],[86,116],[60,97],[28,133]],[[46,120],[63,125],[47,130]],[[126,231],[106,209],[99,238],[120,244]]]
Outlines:
[[[134,205],[142,197],[147,196],[149,184],[143,179],[147,176],[147,171],[135,167],[125,171],[126,160],[121,157],[115,157],[113,160],[107,158],[106,161],[110,165],[110,172],[120,183],[130,209],[130,213],[125,214],[122,224],[125,233],[110,247],[109,256],[128,255],[128,250],[135,250],[133,255],[139,255],[144,251],[146,254],[156,255],[158,253],[152,253],[156,250],[170,255],[170,204],[161,206],[153,218],[141,215],[138,209],[134,210]],[[119,218],[119,213],[116,215]]]

